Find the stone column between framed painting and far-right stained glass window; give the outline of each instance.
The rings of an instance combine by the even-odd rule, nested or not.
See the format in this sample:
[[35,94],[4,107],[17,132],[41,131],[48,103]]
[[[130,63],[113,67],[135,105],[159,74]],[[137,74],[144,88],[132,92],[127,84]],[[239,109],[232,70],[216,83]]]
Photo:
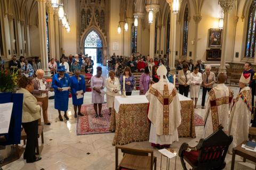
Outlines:
[[231,11],[234,0],[219,0],[219,4],[224,12],[224,23],[222,31],[222,47],[221,47],[221,60],[219,72],[226,72],[226,38],[227,38],[227,25],[228,25],[228,14]]

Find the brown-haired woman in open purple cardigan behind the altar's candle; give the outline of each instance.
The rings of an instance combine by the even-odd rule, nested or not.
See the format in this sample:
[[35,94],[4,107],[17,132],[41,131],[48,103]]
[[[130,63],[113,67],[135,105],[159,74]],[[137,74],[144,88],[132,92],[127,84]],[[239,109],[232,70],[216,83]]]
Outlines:
[[130,67],[125,67],[123,75],[121,75],[119,81],[121,84],[121,91],[123,91],[123,77],[125,77],[125,92],[126,96],[132,95],[132,90],[135,86],[135,80],[132,75]]

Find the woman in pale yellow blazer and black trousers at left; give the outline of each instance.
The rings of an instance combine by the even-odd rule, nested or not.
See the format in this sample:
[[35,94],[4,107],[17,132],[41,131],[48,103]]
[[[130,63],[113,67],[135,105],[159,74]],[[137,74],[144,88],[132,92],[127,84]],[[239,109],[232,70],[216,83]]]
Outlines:
[[22,127],[27,134],[27,144],[23,155],[27,163],[34,163],[41,160],[36,157],[36,141],[38,133],[38,119],[41,118],[41,102],[37,102],[36,98],[31,94],[34,90],[34,82],[26,77],[20,78],[18,81],[19,90],[17,94],[23,94],[22,107]]

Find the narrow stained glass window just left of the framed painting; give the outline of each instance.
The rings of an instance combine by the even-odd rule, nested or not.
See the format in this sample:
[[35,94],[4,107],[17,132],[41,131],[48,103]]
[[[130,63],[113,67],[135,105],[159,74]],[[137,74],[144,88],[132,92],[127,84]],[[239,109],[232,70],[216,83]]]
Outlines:
[[188,51],[188,5],[186,5],[183,18],[183,40],[182,40],[182,55],[187,56]]

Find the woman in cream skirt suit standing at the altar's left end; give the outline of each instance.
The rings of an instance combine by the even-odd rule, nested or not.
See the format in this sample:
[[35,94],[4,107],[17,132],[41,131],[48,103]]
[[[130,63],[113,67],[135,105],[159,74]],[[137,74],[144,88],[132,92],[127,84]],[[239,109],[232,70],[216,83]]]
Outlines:
[[114,71],[108,72],[109,78],[106,79],[107,88],[107,106],[109,108],[109,115],[111,115],[112,107],[114,105],[115,96],[120,96],[120,82],[119,79],[115,77]]

